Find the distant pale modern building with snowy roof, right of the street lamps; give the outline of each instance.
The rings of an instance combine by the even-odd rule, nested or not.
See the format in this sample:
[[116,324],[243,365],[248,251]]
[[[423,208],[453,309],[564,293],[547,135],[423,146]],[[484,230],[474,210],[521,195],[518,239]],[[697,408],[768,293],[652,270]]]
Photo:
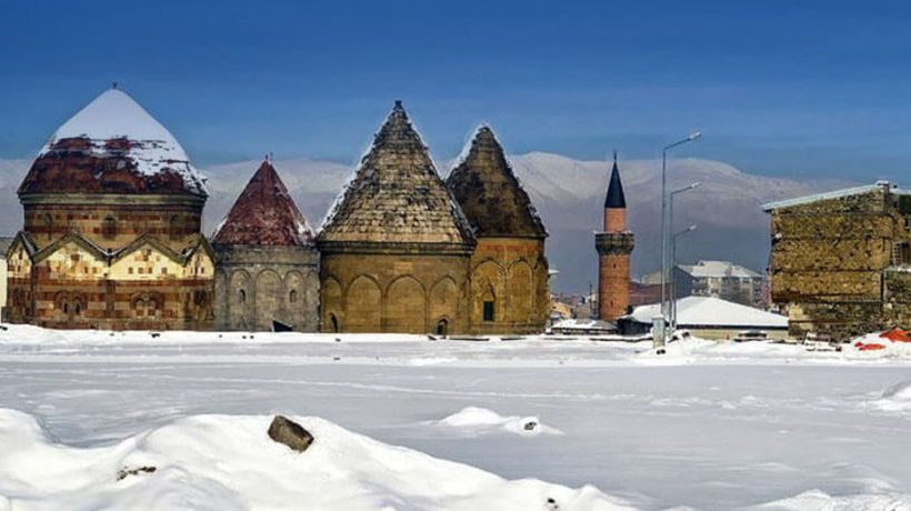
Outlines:
[[673,269],[675,297],[714,297],[764,308],[765,277],[729,261],[699,261]]

